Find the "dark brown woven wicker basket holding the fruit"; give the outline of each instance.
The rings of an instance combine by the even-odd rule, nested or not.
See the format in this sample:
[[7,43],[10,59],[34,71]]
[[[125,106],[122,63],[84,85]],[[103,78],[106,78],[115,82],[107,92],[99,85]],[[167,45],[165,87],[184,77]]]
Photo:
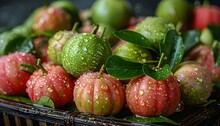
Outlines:
[[[176,113],[172,116],[183,116],[180,120],[183,126],[220,126],[220,90],[215,90],[212,99],[217,101],[207,107],[190,110],[188,115]],[[0,99],[0,126],[72,126],[72,125],[126,125],[139,126],[143,123],[127,120],[95,116],[88,113],[69,112],[52,109],[41,105],[25,104],[6,99]],[[155,125],[156,124],[147,124]]]

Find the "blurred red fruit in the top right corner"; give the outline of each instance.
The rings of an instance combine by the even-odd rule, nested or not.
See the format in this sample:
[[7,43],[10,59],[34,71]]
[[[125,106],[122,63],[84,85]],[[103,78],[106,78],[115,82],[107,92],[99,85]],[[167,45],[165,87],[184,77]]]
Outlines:
[[193,11],[193,29],[204,29],[207,25],[220,25],[220,8],[215,5],[199,6]]

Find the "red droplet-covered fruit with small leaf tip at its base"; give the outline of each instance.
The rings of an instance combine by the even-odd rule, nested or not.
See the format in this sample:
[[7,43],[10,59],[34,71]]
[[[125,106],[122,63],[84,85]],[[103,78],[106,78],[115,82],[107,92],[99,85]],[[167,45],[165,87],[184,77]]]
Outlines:
[[56,108],[71,102],[75,79],[61,66],[44,64],[44,68],[48,73],[36,70],[27,81],[26,92],[31,101],[36,102],[42,96],[47,96]]

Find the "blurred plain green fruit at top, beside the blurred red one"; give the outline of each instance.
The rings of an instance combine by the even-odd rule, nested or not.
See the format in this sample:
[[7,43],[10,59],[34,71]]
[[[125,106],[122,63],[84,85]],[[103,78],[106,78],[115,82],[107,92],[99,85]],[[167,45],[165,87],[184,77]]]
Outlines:
[[156,8],[156,16],[174,24],[186,22],[191,15],[192,7],[187,0],[162,0]]

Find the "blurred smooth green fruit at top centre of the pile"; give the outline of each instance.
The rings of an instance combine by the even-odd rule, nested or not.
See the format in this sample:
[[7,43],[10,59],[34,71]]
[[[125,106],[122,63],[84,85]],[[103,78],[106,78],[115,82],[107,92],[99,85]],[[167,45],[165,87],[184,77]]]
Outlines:
[[131,15],[126,0],[96,0],[91,7],[91,17],[95,23],[110,25],[115,29],[126,28]]

